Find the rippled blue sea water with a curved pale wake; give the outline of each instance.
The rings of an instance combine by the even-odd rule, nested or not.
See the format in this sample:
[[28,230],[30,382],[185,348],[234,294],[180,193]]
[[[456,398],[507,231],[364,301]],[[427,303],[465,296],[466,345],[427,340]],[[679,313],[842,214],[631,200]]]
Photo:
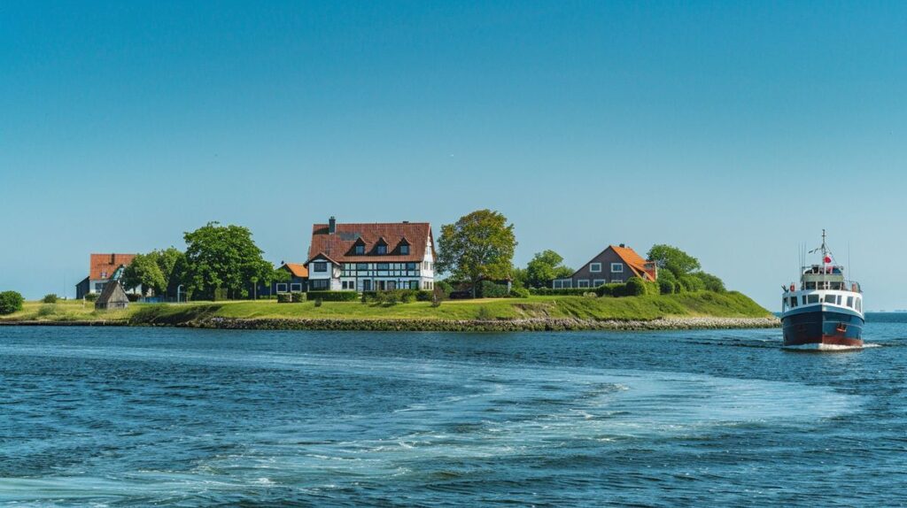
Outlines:
[[0,503],[907,504],[907,315],[866,339],[0,328]]

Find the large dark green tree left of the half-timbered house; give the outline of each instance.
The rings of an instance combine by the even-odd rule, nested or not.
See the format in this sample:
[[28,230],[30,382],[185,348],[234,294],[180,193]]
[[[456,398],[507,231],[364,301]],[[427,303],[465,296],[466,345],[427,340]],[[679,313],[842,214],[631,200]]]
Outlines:
[[184,238],[183,278],[193,298],[213,298],[219,288],[226,290],[228,298],[245,298],[252,277],[266,281],[273,276],[274,266],[261,257],[249,228],[210,222]]

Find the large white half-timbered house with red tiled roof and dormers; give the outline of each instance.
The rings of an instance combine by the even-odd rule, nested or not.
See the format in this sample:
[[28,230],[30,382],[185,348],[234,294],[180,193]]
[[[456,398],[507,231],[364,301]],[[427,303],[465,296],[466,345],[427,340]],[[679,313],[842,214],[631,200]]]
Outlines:
[[312,226],[309,291],[434,289],[434,237],[427,222]]

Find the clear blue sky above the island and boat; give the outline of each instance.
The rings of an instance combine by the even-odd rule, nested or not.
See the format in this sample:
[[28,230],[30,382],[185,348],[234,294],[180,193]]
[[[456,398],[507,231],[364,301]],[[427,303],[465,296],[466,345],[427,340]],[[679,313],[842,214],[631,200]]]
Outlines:
[[773,310],[825,227],[907,308],[905,62],[903,2],[5,2],[0,289],[490,207],[518,264],[676,244]]

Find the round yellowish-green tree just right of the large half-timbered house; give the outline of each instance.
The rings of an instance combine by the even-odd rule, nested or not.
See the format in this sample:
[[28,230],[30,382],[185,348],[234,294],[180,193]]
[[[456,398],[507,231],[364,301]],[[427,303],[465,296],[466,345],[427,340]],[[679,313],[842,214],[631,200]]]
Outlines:
[[443,225],[438,238],[437,269],[449,272],[473,287],[483,279],[505,279],[512,275],[516,249],[513,225],[492,210],[478,210]]

